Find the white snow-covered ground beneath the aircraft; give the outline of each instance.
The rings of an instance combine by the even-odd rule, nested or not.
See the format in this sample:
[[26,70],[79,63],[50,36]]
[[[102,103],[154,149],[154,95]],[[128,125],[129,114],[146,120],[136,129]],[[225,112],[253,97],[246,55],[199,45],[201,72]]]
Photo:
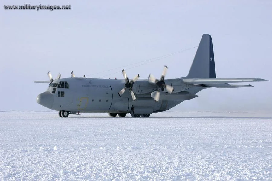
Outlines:
[[272,180],[272,115],[0,112],[2,180]]

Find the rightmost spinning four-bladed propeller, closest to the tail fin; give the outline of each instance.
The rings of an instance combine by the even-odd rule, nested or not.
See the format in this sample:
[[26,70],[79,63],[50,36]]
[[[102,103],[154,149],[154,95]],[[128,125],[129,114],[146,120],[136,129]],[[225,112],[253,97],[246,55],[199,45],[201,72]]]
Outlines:
[[157,91],[154,91],[151,93],[151,97],[153,97],[153,99],[156,101],[160,100],[160,91],[164,91],[164,89],[166,89],[171,94],[174,90],[172,86],[166,85],[164,82],[164,77],[167,73],[167,70],[168,70],[168,67],[164,66],[164,70],[161,74],[160,80],[157,80],[152,74],[149,74],[148,82],[158,87]]

